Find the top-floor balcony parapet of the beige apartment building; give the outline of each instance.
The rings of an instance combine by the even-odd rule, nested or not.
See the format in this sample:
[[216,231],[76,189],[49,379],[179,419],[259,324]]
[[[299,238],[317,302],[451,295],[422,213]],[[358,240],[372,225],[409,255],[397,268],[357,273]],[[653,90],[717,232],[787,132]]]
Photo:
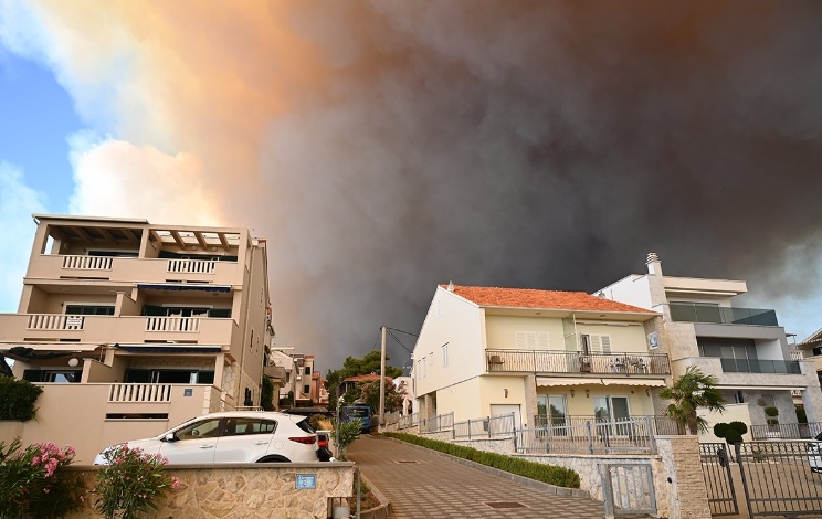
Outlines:
[[43,254],[32,260],[27,273],[40,279],[107,279],[114,283],[202,282],[241,285],[243,265],[212,260],[157,260]]

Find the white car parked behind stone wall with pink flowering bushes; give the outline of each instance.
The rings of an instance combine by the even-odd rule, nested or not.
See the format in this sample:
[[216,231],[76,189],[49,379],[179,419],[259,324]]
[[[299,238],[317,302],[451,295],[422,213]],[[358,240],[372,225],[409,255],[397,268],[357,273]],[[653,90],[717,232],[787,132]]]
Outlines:
[[[169,464],[316,463],[323,457],[308,419],[267,411],[229,411],[191,419],[158,436],[128,442]],[[107,465],[104,448],[95,465]],[[318,451],[320,453],[318,454]]]

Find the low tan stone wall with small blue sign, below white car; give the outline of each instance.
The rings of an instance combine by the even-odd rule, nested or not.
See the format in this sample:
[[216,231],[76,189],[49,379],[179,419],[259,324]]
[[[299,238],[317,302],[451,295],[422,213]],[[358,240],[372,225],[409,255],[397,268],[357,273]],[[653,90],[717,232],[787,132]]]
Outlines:
[[[70,469],[82,475],[87,489],[94,487],[96,467]],[[347,462],[180,465],[167,468],[166,473],[179,477],[182,486],[171,491],[147,518],[325,519],[333,515],[330,498],[351,497],[355,465]],[[316,475],[316,488],[297,489],[297,474]],[[92,509],[94,499],[94,494],[87,494],[85,508],[67,519],[103,517]]]

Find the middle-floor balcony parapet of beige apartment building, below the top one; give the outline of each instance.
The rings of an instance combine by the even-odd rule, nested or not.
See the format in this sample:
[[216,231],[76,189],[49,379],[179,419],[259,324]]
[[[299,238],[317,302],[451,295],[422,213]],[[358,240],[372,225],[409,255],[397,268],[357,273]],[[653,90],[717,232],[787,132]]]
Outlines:
[[0,314],[0,341],[71,339],[99,343],[197,341],[231,345],[238,331],[233,319],[219,317]]

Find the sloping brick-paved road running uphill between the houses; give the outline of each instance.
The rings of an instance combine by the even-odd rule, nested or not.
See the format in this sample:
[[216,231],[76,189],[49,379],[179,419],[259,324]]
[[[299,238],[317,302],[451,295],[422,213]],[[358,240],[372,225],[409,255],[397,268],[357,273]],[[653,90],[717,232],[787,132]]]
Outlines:
[[550,494],[382,436],[361,436],[348,459],[391,501],[397,519],[604,516],[603,505],[589,498]]

